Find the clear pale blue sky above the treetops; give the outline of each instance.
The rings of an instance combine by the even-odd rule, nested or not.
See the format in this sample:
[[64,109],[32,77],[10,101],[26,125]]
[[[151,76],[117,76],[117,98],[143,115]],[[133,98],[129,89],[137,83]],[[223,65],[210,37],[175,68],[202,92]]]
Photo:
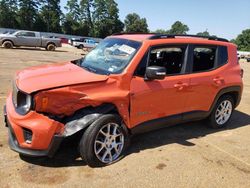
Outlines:
[[[129,13],[146,18],[150,31],[170,29],[179,20],[189,34],[208,31],[233,39],[250,28],[250,0],[115,0],[122,21]],[[67,0],[61,0],[61,7]]]

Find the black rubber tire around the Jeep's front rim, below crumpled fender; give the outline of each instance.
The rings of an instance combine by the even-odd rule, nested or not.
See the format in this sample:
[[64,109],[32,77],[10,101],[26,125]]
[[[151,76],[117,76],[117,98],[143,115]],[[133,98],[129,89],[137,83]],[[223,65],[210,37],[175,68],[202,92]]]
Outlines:
[[[127,132],[126,127],[124,127],[124,125],[122,125],[121,123],[121,119],[114,114],[106,114],[101,116],[100,118],[98,118],[95,122],[93,122],[88,128],[87,130],[84,132],[80,143],[79,143],[79,151],[80,151],[80,155],[83,158],[83,160],[91,167],[103,167],[103,166],[107,166],[110,164],[113,164],[115,162],[117,162],[118,160],[120,160],[123,156],[124,156],[124,151],[126,150],[126,148],[129,145],[129,134]],[[119,134],[122,134],[124,137],[123,139],[123,147],[120,148],[120,154],[116,156],[116,158],[114,158],[114,160],[112,162],[103,162],[101,161],[100,156],[98,158],[98,154],[96,154],[96,148],[97,144],[96,144],[96,140],[97,138],[99,138],[99,135],[102,135],[102,133],[100,132],[100,130],[104,130],[105,126],[107,126],[108,124],[114,124],[114,125],[119,125],[116,128],[116,132],[118,131]],[[110,128],[111,130],[111,128]],[[114,130],[114,129],[113,129]],[[107,131],[108,132],[108,131]],[[105,132],[106,133],[106,132]],[[108,152],[107,149],[107,137],[103,136],[105,138],[105,142],[106,144],[105,147],[101,146],[101,148],[103,148],[102,150],[100,150],[100,155],[103,153],[103,155],[105,155],[105,152]],[[103,139],[104,139],[103,138]],[[120,138],[120,136],[119,136]],[[119,139],[118,138],[118,139]],[[116,139],[116,138],[115,138]],[[110,147],[111,144],[110,144]],[[118,146],[119,147],[119,146]],[[101,149],[99,148],[99,149]],[[98,149],[98,150],[99,150]],[[113,153],[115,153],[115,149],[111,148],[109,151],[109,153],[112,155],[112,151]],[[117,149],[117,148],[116,148]],[[113,159],[113,157],[111,157]],[[104,157],[104,160],[106,159],[106,157]]]

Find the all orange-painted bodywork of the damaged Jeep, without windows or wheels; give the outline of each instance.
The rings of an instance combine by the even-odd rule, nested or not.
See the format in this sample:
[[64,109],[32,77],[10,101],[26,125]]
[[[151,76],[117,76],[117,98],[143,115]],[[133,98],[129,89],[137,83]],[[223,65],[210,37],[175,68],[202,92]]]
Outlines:
[[[16,81],[18,88],[26,93],[39,91],[34,95],[35,111],[25,116],[15,112],[11,96],[7,99],[8,118],[13,124],[20,145],[45,149],[52,135],[63,130],[61,123],[49,119],[41,112],[63,117],[70,116],[87,106],[112,103],[117,107],[126,126],[133,128],[144,121],[168,115],[192,110],[208,111],[221,88],[241,83],[238,76],[240,67],[232,66],[230,63],[213,71],[213,75],[211,72],[202,72],[148,82],[141,77],[133,76],[145,52],[150,46],[159,44],[224,45],[228,47],[229,61],[237,63],[236,46],[231,43],[204,41],[198,38],[145,40],[149,36],[141,35],[139,38],[138,35],[112,36],[142,41],[141,48],[121,74],[97,75],[72,63],[32,67],[19,72]],[[58,74],[55,73],[57,71]],[[215,73],[218,78],[224,80],[211,84]],[[227,76],[228,74],[230,76]],[[24,142],[19,126],[32,127],[34,130],[32,145]],[[38,138],[40,141],[36,142]]]

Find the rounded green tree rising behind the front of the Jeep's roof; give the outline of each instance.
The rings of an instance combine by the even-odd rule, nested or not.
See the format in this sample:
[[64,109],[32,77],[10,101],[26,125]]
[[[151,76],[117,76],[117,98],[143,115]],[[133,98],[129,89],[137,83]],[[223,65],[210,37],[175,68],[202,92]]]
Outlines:
[[140,18],[136,13],[128,14],[124,24],[126,32],[149,32],[146,18]]

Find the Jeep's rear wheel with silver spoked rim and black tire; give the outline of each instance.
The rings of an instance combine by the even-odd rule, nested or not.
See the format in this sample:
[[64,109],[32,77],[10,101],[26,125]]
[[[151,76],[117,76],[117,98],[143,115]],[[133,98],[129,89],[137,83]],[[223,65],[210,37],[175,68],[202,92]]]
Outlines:
[[212,128],[225,127],[232,117],[234,107],[235,102],[232,96],[223,95],[220,97],[213,111],[208,117],[208,126]]

